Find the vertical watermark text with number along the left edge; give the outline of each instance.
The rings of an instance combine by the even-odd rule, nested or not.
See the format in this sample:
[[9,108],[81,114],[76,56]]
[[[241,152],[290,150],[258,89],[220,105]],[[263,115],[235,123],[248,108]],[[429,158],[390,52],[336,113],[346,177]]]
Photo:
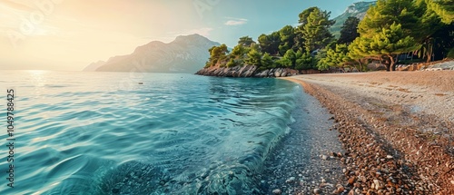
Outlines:
[[6,174],[7,186],[15,188],[15,90],[6,90],[6,148],[8,155],[6,158],[8,167]]

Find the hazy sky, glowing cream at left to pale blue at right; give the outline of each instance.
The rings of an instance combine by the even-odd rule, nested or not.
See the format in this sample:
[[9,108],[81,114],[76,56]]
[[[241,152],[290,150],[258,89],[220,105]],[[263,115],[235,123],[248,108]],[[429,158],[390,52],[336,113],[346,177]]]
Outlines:
[[0,69],[80,71],[177,35],[238,38],[297,24],[310,6],[341,13],[358,0],[1,0]]

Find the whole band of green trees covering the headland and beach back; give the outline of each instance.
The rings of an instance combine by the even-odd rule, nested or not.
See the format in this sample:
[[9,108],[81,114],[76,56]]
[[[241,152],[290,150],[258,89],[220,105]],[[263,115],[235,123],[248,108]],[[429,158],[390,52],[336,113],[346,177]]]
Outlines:
[[310,7],[299,15],[298,26],[261,34],[257,42],[243,36],[230,54],[225,44],[212,47],[206,67],[364,71],[364,64],[376,60],[393,71],[400,54],[412,60],[418,54],[427,62],[453,55],[454,0],[379,0],[362,21],[347,18],[338,40],[329,31],[330,14]]

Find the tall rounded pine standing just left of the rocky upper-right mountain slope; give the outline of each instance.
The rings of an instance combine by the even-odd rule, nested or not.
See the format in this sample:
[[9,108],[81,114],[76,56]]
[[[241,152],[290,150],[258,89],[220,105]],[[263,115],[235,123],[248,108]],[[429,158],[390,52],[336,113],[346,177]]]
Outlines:
[[306,51],[321,49],[333,39],[329,28],[335,22],[329,19],[330,14],[318,7],[311,7],[300,14],[299,30],[305,39]]

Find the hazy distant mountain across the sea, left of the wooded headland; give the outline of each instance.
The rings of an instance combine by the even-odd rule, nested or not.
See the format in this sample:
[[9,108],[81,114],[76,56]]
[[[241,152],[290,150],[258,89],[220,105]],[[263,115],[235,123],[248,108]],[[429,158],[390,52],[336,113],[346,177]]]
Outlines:
[[195,73],[210,57],[208,49],[218,45],[200,34],[181,35],[169,44],[153,41],[135,48],[133,54],[91,63],[84,71]]

